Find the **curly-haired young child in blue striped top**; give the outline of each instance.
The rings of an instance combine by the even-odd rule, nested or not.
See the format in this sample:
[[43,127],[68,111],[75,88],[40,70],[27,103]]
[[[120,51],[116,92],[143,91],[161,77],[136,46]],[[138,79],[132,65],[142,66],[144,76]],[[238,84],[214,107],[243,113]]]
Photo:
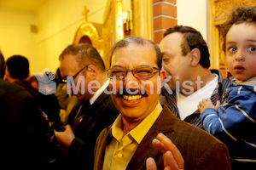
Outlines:
[[205,130],[230,150],[233,169],[256,169],[256,7],[239,7],[223,26],[224,52],[234,79],[223,104],[203,99]]

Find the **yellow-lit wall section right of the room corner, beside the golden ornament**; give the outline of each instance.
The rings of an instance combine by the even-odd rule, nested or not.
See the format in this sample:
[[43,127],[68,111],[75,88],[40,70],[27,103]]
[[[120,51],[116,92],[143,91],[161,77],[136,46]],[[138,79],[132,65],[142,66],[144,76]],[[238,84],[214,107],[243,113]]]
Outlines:
[[[98,2],[98,3],[97,3]],[[102,1],[101,1],[102,2]],[[36,41],[37,56],[55,71],[59,66],[59,55],[73,43],[74,35],[84,23],[84,5],[89,9],[88,20],[102,23],[106,3],[89,0],[49,0],[38,11],[38,37]],[[42,66],[38,67],[42,71]],[[40,70],[41,69],[41,70]]]

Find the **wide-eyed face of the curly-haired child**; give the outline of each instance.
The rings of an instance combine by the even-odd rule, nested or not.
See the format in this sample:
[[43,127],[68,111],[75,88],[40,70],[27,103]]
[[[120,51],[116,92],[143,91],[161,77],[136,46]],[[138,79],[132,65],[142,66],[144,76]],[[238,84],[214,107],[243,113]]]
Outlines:
[[230,27],[226,36],[226,57],[230,73],[239,81],[256,77],[256,25]]

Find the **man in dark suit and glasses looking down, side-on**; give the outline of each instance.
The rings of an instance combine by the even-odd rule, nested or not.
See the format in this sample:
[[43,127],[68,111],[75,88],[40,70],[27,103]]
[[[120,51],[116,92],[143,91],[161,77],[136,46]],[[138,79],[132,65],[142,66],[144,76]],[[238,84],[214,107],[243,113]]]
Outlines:
[[[118,115],[109,94],[109,80],[103,60],[89,44],[73,44],[60,55],[61,77],[67,82],[67,92],[81,101],[73,109],[63,132],[55,131],[59,144],[67,150],[69,167],[93,167],[96,138],[104,127],[108,127]],[[69,87],[69,88],[68,88]]]

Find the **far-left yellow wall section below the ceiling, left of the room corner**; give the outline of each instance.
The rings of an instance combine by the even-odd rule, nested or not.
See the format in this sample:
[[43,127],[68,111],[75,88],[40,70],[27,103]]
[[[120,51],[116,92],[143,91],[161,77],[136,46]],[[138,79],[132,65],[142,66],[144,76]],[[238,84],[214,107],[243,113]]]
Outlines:
[[37,23],[35,14],[11,8],[0,8],[0,48],[4,59],[11,55],[26,56],[32,69],[35,59],[35,37],[30,31],[30,25]]

